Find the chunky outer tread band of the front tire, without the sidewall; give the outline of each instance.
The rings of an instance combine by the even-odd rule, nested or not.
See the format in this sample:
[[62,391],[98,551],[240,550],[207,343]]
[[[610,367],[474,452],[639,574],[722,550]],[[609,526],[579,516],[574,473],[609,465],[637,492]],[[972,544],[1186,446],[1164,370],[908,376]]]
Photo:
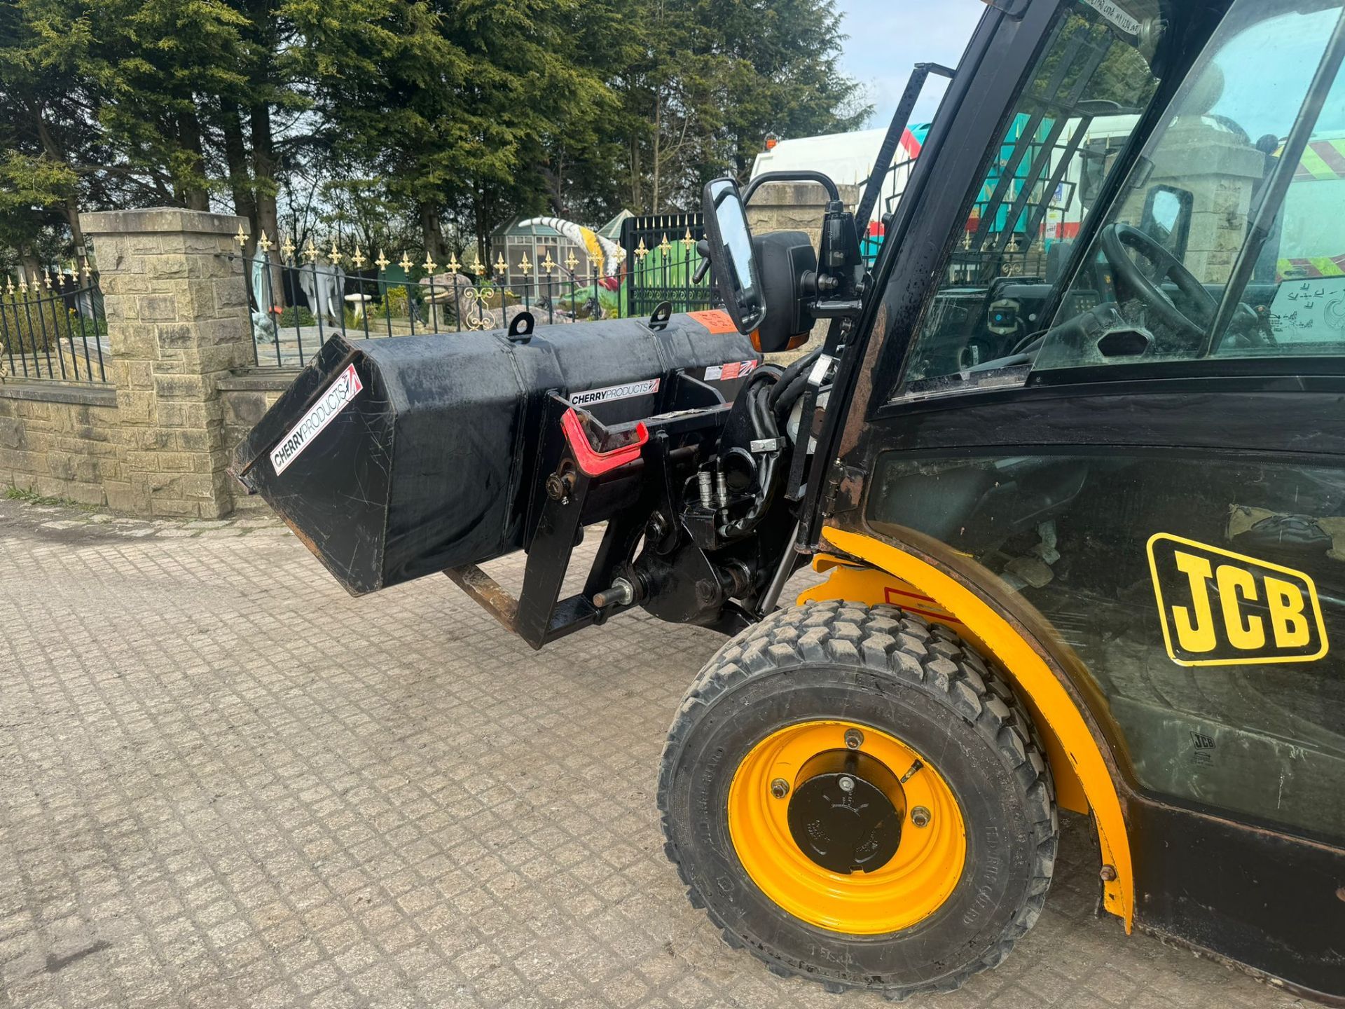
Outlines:
[[[974,961],[932,982],[902,985],[872,975],[822,974],[784,954],[734,934],[698,892],[683,865],[670,822],[670,791],[677,755],[699,716],[718,698],[761,673],[816,665],[854,665],[868,673],[936,696],[986,739],[1011,767],[1032,822],[1034,852],[1026,900],[999,938]],[[820,982],[827,990],[859,989],[902,1002],[912,996],[955,992],[974,974],[998,966],[1032,927],[1046,901],[1059,845],[1054,784],[1041,736],[1026,708],[994,666],[948,627],[933,624],[893,605],[863,605],[841,600],[806,603],[776,611],[730,639],[705,665],[687,690],[668,731],[660,763],[658,807],[664,853],[677,866],[691,905],[705,909],[733,948],[748,948],[772,974]]]

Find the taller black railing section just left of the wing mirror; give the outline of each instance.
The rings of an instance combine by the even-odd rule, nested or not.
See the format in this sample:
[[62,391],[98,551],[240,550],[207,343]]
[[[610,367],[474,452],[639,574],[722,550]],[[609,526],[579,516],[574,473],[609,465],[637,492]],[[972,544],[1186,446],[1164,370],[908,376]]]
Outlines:
[[621,225],[625,249],[625,315],[648,316],[667,301],[674,312],[695,312],[716,305],[710,278],[693,283],[705,238],[702,214],[632,217]]

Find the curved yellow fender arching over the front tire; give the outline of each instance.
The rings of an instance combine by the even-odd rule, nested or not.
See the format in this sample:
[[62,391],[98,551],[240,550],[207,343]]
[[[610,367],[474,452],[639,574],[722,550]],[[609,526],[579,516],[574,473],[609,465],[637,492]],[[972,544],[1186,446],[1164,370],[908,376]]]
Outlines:
[[799,596],[800,604],[845,599],[900,605],[951,626],[1003,666],[1045,740],[1057,803],[1079,813],[1092,811],[1104,866],[1103,904],[1126,923],[1128,932],[1135,885],[1120,796],[1102,747],[1061,678],[998,611],[935,565],[862,533],[823,529],[822,534],[841,553],[872,566],[819,554],[814,568],[830,570],[831,576]]

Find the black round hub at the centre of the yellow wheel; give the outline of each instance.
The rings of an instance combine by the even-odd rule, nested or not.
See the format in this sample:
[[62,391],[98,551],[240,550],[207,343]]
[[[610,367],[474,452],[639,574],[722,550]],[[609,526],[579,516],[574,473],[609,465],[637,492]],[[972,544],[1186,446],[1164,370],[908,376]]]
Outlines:
[[854,749],[818,753],[790,795],[790,834],[823,869],[846,874],[881,869],[901,845],[907,800],[897,776]]

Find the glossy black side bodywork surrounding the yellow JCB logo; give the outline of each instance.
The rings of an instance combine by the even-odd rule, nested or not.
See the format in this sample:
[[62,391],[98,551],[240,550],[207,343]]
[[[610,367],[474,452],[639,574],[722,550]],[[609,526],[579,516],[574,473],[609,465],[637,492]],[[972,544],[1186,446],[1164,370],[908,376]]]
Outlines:
[[[1201,542],[1289,562],[1311,574],[1328,628],[1340,630],[1345,565],[1323,556],[1329,541],[1290,548],[1276,533],[1247,545],[1245,537],[1228,538],[1228,523],[1239,504],[1336,515],[1345,486],[1342,417],[1345,377],[1333,375],[1137,378],[907,401],[880,413],[865,444],[870,460],[905,461],[896,475],[874,465],[865,507],[833,517],[843,527],[889,530],[898,539],[897,526],[909,525],[978,558],[1021,552],[1036,542],[1033,530],[1059,523],[1065,557],[1054,583],[1022,593],[1099,679],[1080,696],[1089,698],[1089,714],[1116,756],[1135,923],[1333,1004],[1345,1002],[1345,848],[1336,833],[1345,792],[1328,780],[1295,786],[1302,822],[1315,822],[1317,831],[1252,811],[1235,819],[1229,807],[1256,795],[1272,802],[1276,760],[1293,753],[1319,774],[1345,776],[1332,771],[1340,731],[1332,712],[1341,710],[1345,682],[1334,667],[1314,673],[1311,665],[1248,673],[1173,667],[1158,639],[1143,539],[1118,554],[1112,535],[1141,526],[1145,535],[1185,530]],[[1126,467],[1137,459],[1153,460],[1154,482],[1127,491]],[[1272,479],[1229,484],[1198,476],[1239,468]],[[870,526],[861,513],[881,521]],[[1286,553],[1293,549],[1299,553]],[[1146,643],[1126,644],[1127,635]],[[1157,694],[1146,683],[1110,678],[1108,663],[1112,671],[1124,667],[1127,647],[1143,658],[1145,675],[1158,677]],[[1291,682],[1310,693],[1278,693]],[[1263,721],[1250,731],[1237,712],[1258,698]],[[1204,755],[1190,751],[1216,744],[1210,752],[1229,770],[1217,788],[1205,787],[1208,802],[1173,800],[1171,792],[1208,771],[1155,765],[1154,755],[1180,751],[1184,761],[1200,760]],[[1149,761],[1139,775],[1165,794],[1142,786],[1135,760]],[[1319,815],[1310,813],[1311,794],[1325,803]]]

